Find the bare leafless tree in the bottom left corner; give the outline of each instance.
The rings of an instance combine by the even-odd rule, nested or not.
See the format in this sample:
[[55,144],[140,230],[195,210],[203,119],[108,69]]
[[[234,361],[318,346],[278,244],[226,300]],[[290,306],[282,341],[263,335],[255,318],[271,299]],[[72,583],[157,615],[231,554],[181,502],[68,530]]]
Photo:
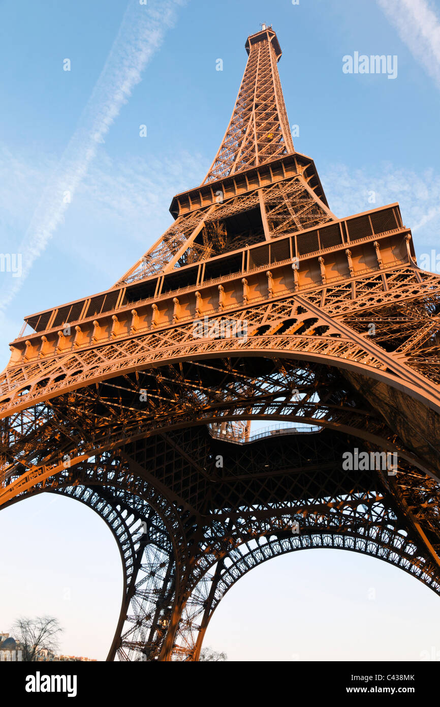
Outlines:
[[28,617],[20,617],[13,624],[10,630],[17,642],[21,643],[23,650],[23,660],[34,662],[37,660],[39,650],[52,650],[54,652],[58,648],[58,634],[63,629],[59,625],[58,619],[54,617],[36,617],[29,619]]

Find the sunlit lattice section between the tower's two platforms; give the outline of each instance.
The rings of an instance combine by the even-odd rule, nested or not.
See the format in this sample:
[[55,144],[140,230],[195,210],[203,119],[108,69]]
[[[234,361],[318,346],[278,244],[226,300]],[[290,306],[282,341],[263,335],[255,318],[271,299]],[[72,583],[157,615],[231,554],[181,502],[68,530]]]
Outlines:
[[[284,174],[288,174],[287,169]],[[248,193],[228,199],[225,182],[218,182],[212,192],[214,203],[189,214],[180,214],[117,285],[202,262],[245,244],[261,243],[285,233],[319,226],[334,218],[309,186],[301,165],[295,175],[285,176],[283,181],[273,185],[252,186],[249,182],[247,185]],[[231,226],[233,216],[241,217],[242,224],[237,218],[237,226]]]

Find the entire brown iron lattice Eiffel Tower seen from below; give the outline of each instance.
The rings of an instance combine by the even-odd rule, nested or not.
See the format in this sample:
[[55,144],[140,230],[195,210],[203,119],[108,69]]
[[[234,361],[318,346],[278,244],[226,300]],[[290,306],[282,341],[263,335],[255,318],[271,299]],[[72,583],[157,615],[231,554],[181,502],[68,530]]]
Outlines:
[[397,203],[332,213],[292,144],[275,32],[245,47],[174,223],[107,291],[25,317],[2,374],[1,506],[74,498],[119,547],[107,660],[198,660],[225,592],[296,550],[440,593],[439,276]]

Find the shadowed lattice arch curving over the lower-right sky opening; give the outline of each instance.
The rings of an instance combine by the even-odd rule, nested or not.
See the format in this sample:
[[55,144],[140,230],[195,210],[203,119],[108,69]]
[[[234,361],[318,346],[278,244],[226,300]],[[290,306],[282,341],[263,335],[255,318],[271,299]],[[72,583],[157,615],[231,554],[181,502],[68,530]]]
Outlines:
[[[284,445],[286,441],[284,438]],[[249,457],[252,446],[242,445],[242,454]],[[261,451],[263,449],[262,446]],[[305,451],[306,455],[311,453],[310,448]],[[262,461],[270,460],[276,466],[279,456],[272,445],[272,449],[264,450]],[[256,459],[251,461],[255,468]],[[290,551],[326,547],[362,552],[402,568],[440,593],[439,566],[417,532],[417,528],[420,530],[418,521],[422,520],[421,515],[412,523],[408,505],[396,503],[399,497],[405,503],[402,488],[406,490],[411,487],[417,496],[417,501],[413,497],[412,503],[430,506],[429,535],[436,537],[435,549],[438,553],[439,484],[409,468],[399,469],[403,472],[402,477],[398,474],[399,481],[390,481],[379,475],[380,479],[364,478],[356,482],[350,477],[342,482],[338,471],[335,474],[333,469],[333,474],[330,473],[330,456],[330,463],[323,464],[321,461],[320,472],[328,474],[328,489],[333,486],[336,493],[333,496],[329,491],[328,496],[319,498],[311,494],[316,494],[319,488],[325,492],[326,486],[319,475],[313,478],[311,468],[315,461],[311,460],[307,473],[301,479],[297,478],[295,485],[292,484],[292,477],[287,484],[286,479],[278,479],[280,483],[272,489],[272,503],[267,506],[246,510],[242,506],[242,513],[230,513],[230,518],[222,515],[222,524],[227,525],[227,530],[225,525],[220,525],[224,535],[218,544],[218,561],[211,557],[209,568],[207,565],[206,573],[198,583],[194,583],[184,605],[182,618],[186,634],[181,636],[179,652],[174,654],[174,659],[197,660],[208,621],[225,592],[254,566]],[[263,467],[267,466],[267,463],[263,464]],[[298,496],[301,495],[297,493],[299,486],[302,486],[302,498],[307,500],[290,503],[287,500],[289,489]],[[242,489],[243,494],[246,491],[249,487]],[[258,496],[261,495],[259,489]],[[234,501],[243,503],[243,498],[235,498]],[[293,529],[295,532],[292,532]],[[219,536],[219,528],[217,533]],[[238,542],[234,542],[237,538]],[[214,544],[214,538],[209,539]]]

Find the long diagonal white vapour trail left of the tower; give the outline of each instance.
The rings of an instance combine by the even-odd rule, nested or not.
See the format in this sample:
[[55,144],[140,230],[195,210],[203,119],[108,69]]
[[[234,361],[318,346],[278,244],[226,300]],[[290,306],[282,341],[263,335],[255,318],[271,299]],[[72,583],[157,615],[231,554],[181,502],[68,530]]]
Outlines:
[[[81,115],[78,127],[49,180],[28,230],[18,246],[23,274],[6,280],[0,310],[5,309],[23,284],[32,263],[43,252],[60,223],[78,185],[104,141],[122,105],[141,81],[146,64],[171,28],[182,0],[130,0],[105,66]],[[69,194],[69,196],[68,196]]]

